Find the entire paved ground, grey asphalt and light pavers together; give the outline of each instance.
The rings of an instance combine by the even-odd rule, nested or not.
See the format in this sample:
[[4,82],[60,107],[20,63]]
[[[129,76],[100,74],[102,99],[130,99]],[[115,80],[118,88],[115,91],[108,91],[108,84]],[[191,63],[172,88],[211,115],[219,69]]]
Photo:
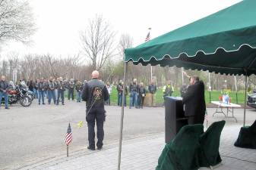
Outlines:
[[[116,169],[118,158],[120,107],[106,107],[106,138],[104,150],[89,151],[87,127],[75,124],[84,120],[84,103],[66,102],[65,106],[11,107],[0,110],[0,169]],[[210,123],[223,119],[211,117]],[[242,126],[243,110],[235,110],[234,119],[226,119],[221,137],[220,153],[223,165],[217,169],[256,169],[256,151],[233,146]],[[247,125],[256,119],[248,110]],[[65,155],[65,132],[71,121],[74,140],[70,157]],[[164,147],[164,109],[125,109],[122,169],[154,169]]]

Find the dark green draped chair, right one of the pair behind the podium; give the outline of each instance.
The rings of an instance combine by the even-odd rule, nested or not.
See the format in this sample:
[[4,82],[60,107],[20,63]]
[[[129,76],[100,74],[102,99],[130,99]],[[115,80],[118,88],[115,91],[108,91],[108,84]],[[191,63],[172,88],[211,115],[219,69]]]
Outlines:
[[220,134],[225,125],[225,121],[213,122],[204,134],[201,134],[199,143],[201,145],[200,166],[210,167],[219,164],[220,158]]

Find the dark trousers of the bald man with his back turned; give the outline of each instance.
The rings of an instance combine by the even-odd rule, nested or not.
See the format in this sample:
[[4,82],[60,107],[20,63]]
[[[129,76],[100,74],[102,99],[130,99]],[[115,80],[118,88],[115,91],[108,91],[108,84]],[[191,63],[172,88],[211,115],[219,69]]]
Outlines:
[[106,111],[102,108],[92,108],[87,114],[87,125],[88,125],[88,141],[89,147],[95,148],[95,121],[97,126],[97,138],[98,141],[96,146],[98,148],[103,147],[104,129],[103,124],[105,122]]

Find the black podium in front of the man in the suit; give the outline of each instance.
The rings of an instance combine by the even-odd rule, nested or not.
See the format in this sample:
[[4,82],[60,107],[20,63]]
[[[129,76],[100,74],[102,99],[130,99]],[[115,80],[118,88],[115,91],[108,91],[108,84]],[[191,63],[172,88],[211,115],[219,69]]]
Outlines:
[[182,98],[166,96],[166,144],[175,138],[175,135],[184,126],[188,125],[188,118],[184,115]]

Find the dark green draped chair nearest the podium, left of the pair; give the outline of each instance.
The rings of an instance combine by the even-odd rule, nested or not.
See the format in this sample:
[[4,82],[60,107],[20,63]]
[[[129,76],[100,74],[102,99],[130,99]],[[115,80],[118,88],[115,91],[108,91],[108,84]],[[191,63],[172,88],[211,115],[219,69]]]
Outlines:
[[185,125],[176,137],[166,144],[156,170],[193,170],[199,168],[199,137],[204,133],[203,125]]

